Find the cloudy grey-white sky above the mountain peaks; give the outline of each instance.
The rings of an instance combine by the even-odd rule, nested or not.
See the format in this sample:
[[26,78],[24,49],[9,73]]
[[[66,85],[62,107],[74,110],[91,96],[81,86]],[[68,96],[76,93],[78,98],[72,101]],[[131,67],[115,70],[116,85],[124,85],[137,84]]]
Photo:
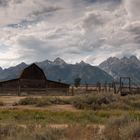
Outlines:
[[140,0],[0,0],[0,66],[140,57]]

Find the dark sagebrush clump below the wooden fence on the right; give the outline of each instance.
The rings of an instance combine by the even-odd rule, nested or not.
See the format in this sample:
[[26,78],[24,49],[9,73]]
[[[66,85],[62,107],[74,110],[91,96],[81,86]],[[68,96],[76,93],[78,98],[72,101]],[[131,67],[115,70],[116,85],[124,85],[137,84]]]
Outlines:
[[140,96],[137,95],[121,97],[114,94],[91,94],[80,97],[73,97],[72,104],[78,109],[120,109],[120,110],[139,110]]

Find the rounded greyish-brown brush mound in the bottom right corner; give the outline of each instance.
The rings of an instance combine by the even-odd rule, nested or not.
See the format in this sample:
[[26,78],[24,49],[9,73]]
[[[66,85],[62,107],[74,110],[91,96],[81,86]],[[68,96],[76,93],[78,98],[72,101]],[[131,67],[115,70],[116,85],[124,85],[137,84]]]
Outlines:
[[140,122],[130,119],[128,115],[111,118],[104,129],[105,140],[139,140]]

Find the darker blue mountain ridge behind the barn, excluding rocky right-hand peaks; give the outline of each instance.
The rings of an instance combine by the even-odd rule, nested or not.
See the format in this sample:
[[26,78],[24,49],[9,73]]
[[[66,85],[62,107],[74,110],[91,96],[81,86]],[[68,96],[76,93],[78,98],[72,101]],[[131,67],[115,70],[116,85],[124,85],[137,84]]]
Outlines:
[[[82,84],[95,84],[97,82],[111,82],[113,77],[98,67],[91,66],[83,61],[76,64],[68,64],[61,58],[56,58],[54,61],[45,60],[42,62],[35,62],[43,69],[46,78],[49,80],[65,82],[69,84],[74,83],[74,79],[81,78]],[[0,81],[18,78],[28,65],[21,63],[17,66],[7,69],[0,68]]]

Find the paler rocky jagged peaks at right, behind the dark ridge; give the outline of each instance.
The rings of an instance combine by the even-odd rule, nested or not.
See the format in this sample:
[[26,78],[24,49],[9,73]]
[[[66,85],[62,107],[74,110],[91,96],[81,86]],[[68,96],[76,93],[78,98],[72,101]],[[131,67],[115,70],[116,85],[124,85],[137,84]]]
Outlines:
[[136,56],[123,57],[121,59],[110,57],[99,65],[114,79],[130,77],[133,84],[140,84],[140,60]]

